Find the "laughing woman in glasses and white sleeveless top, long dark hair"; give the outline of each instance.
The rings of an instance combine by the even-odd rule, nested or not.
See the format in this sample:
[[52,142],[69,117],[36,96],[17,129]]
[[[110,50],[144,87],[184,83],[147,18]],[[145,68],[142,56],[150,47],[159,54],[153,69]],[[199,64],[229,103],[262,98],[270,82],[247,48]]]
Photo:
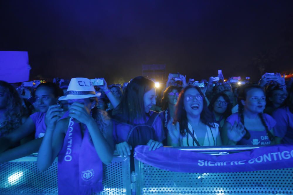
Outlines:
[[199,87],[188,86],[180,92],[174,121],[167,127],[171,146],[222,145],[219,125],[214,123]]

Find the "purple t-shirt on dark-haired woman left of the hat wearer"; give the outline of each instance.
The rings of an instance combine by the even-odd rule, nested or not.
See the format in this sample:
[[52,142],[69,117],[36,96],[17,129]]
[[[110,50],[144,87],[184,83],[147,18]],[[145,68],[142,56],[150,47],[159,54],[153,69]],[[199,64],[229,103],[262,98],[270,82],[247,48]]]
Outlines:
[[45,135],[45,132],[46,132],[45,116],[46,116],[46,113],[44,112],[36,112],[30,115],[30,118],[35,123],[35,128],[36,128],[35,139],[44,137]]

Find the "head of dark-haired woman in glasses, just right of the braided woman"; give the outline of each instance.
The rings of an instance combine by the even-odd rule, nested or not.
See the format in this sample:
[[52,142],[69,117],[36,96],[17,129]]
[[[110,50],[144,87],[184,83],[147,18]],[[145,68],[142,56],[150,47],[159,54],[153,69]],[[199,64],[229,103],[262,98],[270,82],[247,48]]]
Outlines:
[[264,113],[272,115],[285,101],[288,96],[287,90],[280,88],[279,86],[268,86],[267,104],[265,106]]

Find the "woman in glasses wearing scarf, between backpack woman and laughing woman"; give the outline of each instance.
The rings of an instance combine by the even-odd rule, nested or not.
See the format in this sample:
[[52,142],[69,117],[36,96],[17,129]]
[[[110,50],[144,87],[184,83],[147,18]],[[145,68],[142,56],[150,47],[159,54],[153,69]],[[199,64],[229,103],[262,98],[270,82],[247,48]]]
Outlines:
[[167,124],[171,119],[173,120],[174,118],[176,103],[177,103],[181,88],[182,87],[169,86],[163,93],[163,98],[161,100],[161,106],[163,111],[160,112],[160,117],[164,125],[165,137],[167,138],[163,141],[164,146],[170,146],[171,144],[170,137],[168,136]]

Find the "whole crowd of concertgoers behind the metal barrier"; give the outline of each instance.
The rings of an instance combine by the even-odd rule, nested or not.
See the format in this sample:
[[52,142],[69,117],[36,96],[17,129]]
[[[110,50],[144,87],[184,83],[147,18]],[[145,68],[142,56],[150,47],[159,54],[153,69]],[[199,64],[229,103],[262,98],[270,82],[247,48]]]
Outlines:
[[[46,170],[58,157],[59,194],[101,191],[103,164],[133,156],[137,145],[293,144],[293,80],[238,84],[169,74],[156,88],[146,77],[93,85],[87,78],[23,87],[0,81],[0,163],[38,152]],[[64,81],[64,80],[63,80]],[[79,175],[92,170],[93,179]],[[87,183],[89,182],[89,183]]]

